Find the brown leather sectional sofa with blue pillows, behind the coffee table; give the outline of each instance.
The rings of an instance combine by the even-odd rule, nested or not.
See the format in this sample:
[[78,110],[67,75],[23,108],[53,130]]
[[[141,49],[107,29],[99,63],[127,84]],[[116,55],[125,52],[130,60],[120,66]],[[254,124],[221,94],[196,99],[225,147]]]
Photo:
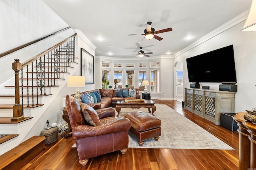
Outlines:
[[[106,107],[116,107],[116,102],[118,100],[124,100],[124,99],[140,99],[140,90],[136,88],[136,98],[134,97],[116,97],[116,90],[117,89],[95,89],[95,90],[90,90],[86,92],[92,93],[93,91],[98,91],[100,92],[101,100],[99,103],[95,103],[94,109],[100,109],[100,108],[106,108]],[[122,91],[124,89],[122,88]],[[129,90],[129,88],[128,88]],[[84,94],[86,92],[81,92],[80,93],[80,98],[82,99]]]

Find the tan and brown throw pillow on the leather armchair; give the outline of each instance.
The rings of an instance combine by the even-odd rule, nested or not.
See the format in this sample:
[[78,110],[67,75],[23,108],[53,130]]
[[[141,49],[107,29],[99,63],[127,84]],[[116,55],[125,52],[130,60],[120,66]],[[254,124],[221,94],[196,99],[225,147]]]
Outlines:
[[84,120],[91,126],[98,126],[101,125],[99,116],[97,112],[90,106],[85,103],[80,103],[80,107],[82,113],[84,115]]

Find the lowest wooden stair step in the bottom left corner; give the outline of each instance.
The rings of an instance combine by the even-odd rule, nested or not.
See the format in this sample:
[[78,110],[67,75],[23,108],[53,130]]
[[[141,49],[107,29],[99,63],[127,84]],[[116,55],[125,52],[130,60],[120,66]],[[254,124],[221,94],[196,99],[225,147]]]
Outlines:
[[[45,149],[45,136],[33,136],[0,155],[0,169],[20,169]],[[24,157],[24,155],[27,155]]]

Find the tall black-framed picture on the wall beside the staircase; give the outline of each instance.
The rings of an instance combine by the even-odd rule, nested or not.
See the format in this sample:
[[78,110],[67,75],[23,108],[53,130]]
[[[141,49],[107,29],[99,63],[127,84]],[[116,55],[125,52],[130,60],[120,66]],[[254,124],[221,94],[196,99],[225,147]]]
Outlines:
[[85,84],[94,84],[94,56],[81,48],[82,54],[82,76],[85,76]]

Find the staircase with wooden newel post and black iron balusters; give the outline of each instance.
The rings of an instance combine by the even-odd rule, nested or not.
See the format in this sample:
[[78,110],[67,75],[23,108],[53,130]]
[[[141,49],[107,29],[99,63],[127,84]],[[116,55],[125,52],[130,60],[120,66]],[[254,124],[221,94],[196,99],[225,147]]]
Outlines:
[[0,155],[40,134],[33,132],[40,117],[66,86],[67,76],[78,69],[75,36],[24,63],[15,59],[15,75],[0,94],[0,135],[6,135],[0,138]]

